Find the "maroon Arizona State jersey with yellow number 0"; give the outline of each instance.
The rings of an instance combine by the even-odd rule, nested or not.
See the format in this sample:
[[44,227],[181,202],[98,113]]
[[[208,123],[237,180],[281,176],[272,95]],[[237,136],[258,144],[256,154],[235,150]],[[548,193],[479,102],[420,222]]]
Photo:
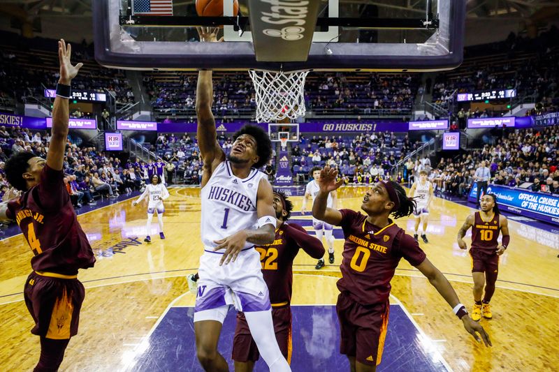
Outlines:
[[337,281],[337,288],[348,292],[359,304],[386,302],[400,258],[417,266],[425,260],[425,253],[417,241],[391,220],[389,225],[379,228],[368,223],[367,216],[359,212],[351,209],[340,209],[340,212],[345,243],[340,266],[342,278]]

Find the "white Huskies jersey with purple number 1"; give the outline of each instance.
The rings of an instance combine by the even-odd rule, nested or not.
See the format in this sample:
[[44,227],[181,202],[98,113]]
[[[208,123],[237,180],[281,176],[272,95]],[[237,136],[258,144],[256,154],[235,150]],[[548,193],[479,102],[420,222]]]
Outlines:
[[[252,168],[247,178],[240,179],[233,174],[231,163],[223,161],[202,188],[201,235],[205,247],[217,246],[220,240],[240,230],[256,230],[256,194],[262,178],[268,176]],[[245,243],[245,248],[254,246]]]

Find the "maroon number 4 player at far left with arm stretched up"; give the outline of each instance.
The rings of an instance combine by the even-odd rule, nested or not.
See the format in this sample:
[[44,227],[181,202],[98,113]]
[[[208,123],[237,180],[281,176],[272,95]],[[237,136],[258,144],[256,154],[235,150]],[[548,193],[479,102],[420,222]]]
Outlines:
[[64,151],[68,136],[68,98],[71,80],[82,64],[72,66],[71,46],[58,43],[60,77],[52,109],[52,137],[47,160],[30,152],[12,156],[5,166],[20,198],[0,204],[0,218],[16,221],[34,258],[24,288],[24,299],[41,337],[41,357],[34,371],[57,371],[64,350],[78,333],[85,297],[78,269],[93,267],[95,256],[64,186]]

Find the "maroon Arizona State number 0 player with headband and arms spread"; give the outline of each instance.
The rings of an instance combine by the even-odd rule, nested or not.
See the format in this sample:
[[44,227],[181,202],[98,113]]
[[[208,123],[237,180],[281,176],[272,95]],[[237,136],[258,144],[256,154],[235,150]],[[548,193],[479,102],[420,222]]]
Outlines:
[[407,198],[402,186],[393,181],[372,185],[361,204],[366,213],[363,215],[351,209],[326,207],[328,193],[342,184],[336,176],[337,170],[329,167],[321,171],[312,215],[344,230],[336,310],[342,339],[340,352],[347,355],[351,371],[376,371],[381,362],[389,320],[390,281],[402,257],[429,279],[467,332],[477,341],[479,333],[484,343],[491,345],[483,327],[467,315],[447,278],[426,258],[417,241],[389,218],[409,216],[414,210],[415,202]]

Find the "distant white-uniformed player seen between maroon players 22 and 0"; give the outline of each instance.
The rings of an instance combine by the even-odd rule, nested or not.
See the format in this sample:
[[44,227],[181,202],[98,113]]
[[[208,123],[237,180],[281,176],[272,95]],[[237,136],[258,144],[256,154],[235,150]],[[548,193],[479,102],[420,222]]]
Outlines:
[[[314,198],[319,193],[319,186],[317,184],[318,177],[320,177],[319,167],[314,167],[311,170],[312,181],[307,184],[305,188],[305,196],[303,197],[303,205],[301,206],[301,213],[305,214],[307,212],[307,199]],[[328,195],[328,208],[335,208],[337,203],[337,193],[335,191]],[[322,232],[324,231],[324,237],[326,237],[326,244],[328,244],[328,262],[330,264],[334,263],[334,237],[332,236],[332,225],[324,221],[317,220],[317,218],[312,218],[312,227],[317,235],[317,238],[322,241]],[[324,258],[320,258],[317,262],[315,269],[322,269],[324,267]]]

